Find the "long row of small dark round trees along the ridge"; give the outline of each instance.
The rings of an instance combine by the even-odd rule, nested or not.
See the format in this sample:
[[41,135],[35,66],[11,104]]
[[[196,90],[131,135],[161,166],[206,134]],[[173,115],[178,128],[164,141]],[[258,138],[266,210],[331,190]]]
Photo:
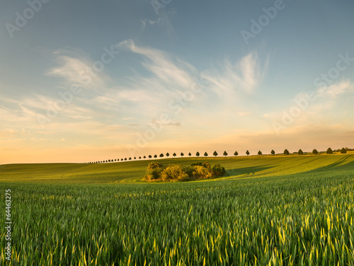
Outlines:
[[[331,148],[329,148],[329,149],[327,149],[326,154],[333,154],[333,152],[336,152],[336,151],[337,151],[337,152],[341,152],[341,154],[346,154],[347,151],[351,151],[351,150],[354,150],[354,149],[342,148],[342,149],[332,150]],[[249,154],[250,154],[250,153],[249,153],[249,151],[247,150],[247,151],[246,151],[246,155],[249,156]],[[275,155],[275,151],[274,151],[274,150],[270,151],[270,154]],[[289,155],[290,153],[289,153],[289,151],[288,151],[287,149],[285,149],[282,154],[284,154],[284,155]],[[302,149],[299,149],[299,151],[294,152],[293,154],[304,155],[304,152],[302,151]],[[317,151],[316,149],[314,149],[311,154],[319,154],[319,151]],[[213,153],[212,155],[216,157],[216,156],[218,156],[219,154],[217,154],[217,151],[214,151],[214,153]],[[227,151],[224,151],[224,153],[223,153],[222,155],[226,157],[226,156],[228,156],[229,154],[227,154]],[[235,152],[234,152],[234,156],[238,156],[238,155],[239,155],[239,153],[238,153],[237,151],[235,151]],[[258,151],[258,155],[263,155],[263,154],[262,154],[262,151]],[[160,158],[164,158],[164,156],[165,156],[164,154],[160,154],[160,155],[159,155]],[[166,153],[166,157],[169,158],[169,156],[170,156],[170,154],[169,154],[169,153]],[[176,157],[177,154],[176,154],[176,153],[173,153],[172,156],[173,156],[173,157]],[[183,152],[181,152],[181,157],[183,157],[183,156],[184,156],[184,154],[183,154]],[[192,156],[192,154],[189,153],[188,156]],[[195,156],[197,156],[197,157],[200,156],[199,151],[197,151],[197,153],[195,154]],[[205,156],[205,157],[209,156],[206,151],[205,151],[205,153],[204,153],[204,156]],[[152,156],[152,155],[149,155],[149,156],[139,156],[139,159],[140,159],[140,160],[141,160],[142,158],[144,158],[144,159],[146,159],[146,158],[151,159],[151,158],[153,158],[153,157],[154,157],[154,158],[157,158],[158,156],[157,156],[157,154],[155,154],[154,156]],[[136,160],[136,159],[137,159],[137,157],[134,157],[134,160]],[[120,158],[120,159],[119,159],[119,158],[118,158],[118,159],[109,159],[109,160],[95,161],[95,162],[89,162],[89,163],[114,163],[114,162],[118,162],[118,161],[128,161],[128,160],[131,161],[131,160],[132,160],[132,157],[129,157],[129,158]]]

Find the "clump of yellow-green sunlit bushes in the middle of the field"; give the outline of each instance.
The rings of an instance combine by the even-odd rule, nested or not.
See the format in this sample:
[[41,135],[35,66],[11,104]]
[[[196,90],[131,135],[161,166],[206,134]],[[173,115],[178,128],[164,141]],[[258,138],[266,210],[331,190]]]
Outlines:
[[147,166],[147,173],[144,175],[144,180],[154,181],[186,181],[195,179],[210,179],[222,176],[226,173],[224,166],[215,164],[210,166],[210,163],[193,163],[190,166],[180,166],[170,164],[164,167],[161,163],[153,161]]

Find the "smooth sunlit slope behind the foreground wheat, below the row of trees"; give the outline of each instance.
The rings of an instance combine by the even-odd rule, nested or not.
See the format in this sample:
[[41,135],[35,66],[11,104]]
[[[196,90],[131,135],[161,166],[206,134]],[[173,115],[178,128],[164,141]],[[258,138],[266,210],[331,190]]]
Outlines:
[[[227,169],[221,179],[266,177],[321,171],[354,171],[354,153],[304,156],[239,156],[226,158],[168,158],[161,163],[189,166],[197,161],[220,163]],[[138,183],[150,161],[78,164],[43,163],[0,166],[0,182],[21,183]],[[219,178],[220,179],[220,178]]]

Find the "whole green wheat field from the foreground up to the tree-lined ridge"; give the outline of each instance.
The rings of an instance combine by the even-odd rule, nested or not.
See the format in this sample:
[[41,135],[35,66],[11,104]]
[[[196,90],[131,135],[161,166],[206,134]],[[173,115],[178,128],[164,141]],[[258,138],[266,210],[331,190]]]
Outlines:
[[151,161],[0,166],[0,265],[354,265],[354,153],[169,158],[214,180],[144,183]]

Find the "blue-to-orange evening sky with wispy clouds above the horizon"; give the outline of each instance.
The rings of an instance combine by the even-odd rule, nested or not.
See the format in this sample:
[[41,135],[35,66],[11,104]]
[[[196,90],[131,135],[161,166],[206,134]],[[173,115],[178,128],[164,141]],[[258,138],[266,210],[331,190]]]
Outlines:
[[353,8],[4,0],[0,164],[354,148]]

